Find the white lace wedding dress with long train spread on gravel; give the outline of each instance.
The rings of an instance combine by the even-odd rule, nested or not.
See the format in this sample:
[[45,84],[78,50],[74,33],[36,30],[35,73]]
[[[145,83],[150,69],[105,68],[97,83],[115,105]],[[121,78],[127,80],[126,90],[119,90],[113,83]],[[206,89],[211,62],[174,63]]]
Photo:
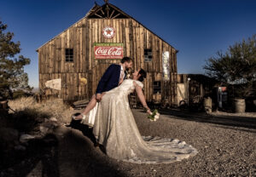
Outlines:
[[[128,101],[128,94],[135,89],[133,82],[125,79],[119,87],[104,94],[89,113],[93,134],[106,148],[108,157],[130,163],[173,163],[195,156],[196,149],[184,141],[141,136]],[[143,88],[143,83],[135,82]]]

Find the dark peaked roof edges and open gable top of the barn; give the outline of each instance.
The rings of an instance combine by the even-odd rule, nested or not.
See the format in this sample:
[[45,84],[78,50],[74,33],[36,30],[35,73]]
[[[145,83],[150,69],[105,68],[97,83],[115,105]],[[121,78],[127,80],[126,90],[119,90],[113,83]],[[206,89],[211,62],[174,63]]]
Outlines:
[[[136,19],[131,17],[129,14],[126,14],[123,10],[119,9],[118,7],[114,6],[111,3],[108,3],[108,1],[106,1],[106,3],[103,4],[102,6],[95,3],[95,5],[90,9],[90,11],[87,14],[85,14],[85,16],[80,20],[83,20],[84,18],[87,18],[87,19],[90,19],[90,18],[93,18],[93,19],[132,19],[132,20],[137,21]],[[72,26],[74,26],[76,23],[74,23]],[[140,23],[139,21],[137,21],[137,23],[140,24],[141,26],[143,26],[143,24]],[[72,26],[69,26],[67,29],[71,28]],[[154,31],[149,30],[146,26],[143,26],[143,27],[146,28],[148,31],[152,32],[155,36],[159,37],[157,34],[154,33]],[[67,29],[65,31],[67,31]],[[62,31],[61,33],[63,33],[63,32],[64,31]],[[58,34],[57,36],[61,35],[61,33]],[[55,36],[55,37],[57,37],[57,36]],[[48,42],[44,43],[38,49],[42,48],[45,44],[47,44],[50,41],[52,41],[53,39],[55,39],[55,37],[51,38]],[[162,41],[164,41],[165,43],[167,43],[161,37],[159,37],[159,38]],[[170,46],[172,46],[170,43],[168,43],[168,44]],[[175,49],[173,46],[172,46],[172,48]],[[38,49],[37,49],[37,52],[38,52]],[[175,50],[178,52],[177,49],[175,49]]]

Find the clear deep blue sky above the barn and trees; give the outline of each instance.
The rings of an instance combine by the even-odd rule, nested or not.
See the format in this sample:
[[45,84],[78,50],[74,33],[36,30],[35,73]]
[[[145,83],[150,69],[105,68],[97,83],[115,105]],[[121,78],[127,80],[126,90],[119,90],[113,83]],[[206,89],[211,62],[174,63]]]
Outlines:
[[[82,19],[94,0],[0,0],[0,20],[20,41],[29,84],[38,88],[38,49]],[[103,0],[96,0],[103,4]],[[204,74],[206,60],[256,34],[255,0],[109,0],[170,43],[178,73]]]

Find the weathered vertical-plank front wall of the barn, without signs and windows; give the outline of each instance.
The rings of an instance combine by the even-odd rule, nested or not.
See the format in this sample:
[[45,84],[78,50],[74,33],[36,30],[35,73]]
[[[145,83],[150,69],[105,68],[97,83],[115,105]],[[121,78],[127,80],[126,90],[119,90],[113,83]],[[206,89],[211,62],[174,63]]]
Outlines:
[[[113,39],[102,36],[104,26],[113,26],[116,29]],[[134,59],[134,69],[143,68],[148,71],[148,77],[144,81],[145,96],[148,101],[153,98],[153,82],[161,80],[162,52],[169,51],[171,81],[165,84],[162,82],[161,93],[170,103],[176,102],[176,50],[132,19],[84,18],[44,44],[38,49],[39,87],[44,88],[47,80],[61,77],[60,93],[64,100],[90,98],[95,93],[103,72],[110,64],[119,63],[119,60],[95,60],[94,43],[124,43],[124,55]],[[65,61],[66,48],[73,49],[72,63]],[[152,62],[144,62],[143,49],[152,49]],[[87,78],[88,84],[81,85],[79,77]],[[56,94],[55,92],[52,89],[48,90],[48,94]]]

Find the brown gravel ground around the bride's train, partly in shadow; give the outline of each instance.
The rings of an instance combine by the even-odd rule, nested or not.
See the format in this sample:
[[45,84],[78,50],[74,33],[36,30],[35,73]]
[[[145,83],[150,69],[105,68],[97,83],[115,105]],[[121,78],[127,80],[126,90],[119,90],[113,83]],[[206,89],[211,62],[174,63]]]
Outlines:
[[199,153],[170,164],[124,163],[94,146],[91,128],[60,126],[55,129],[57,148],[35,161],[26,176],[256,176],[255,113],[238,117],[166,110],[160,111],[159,121],[150,122],[143,111],[132,111],[142,135],[184,140]]

